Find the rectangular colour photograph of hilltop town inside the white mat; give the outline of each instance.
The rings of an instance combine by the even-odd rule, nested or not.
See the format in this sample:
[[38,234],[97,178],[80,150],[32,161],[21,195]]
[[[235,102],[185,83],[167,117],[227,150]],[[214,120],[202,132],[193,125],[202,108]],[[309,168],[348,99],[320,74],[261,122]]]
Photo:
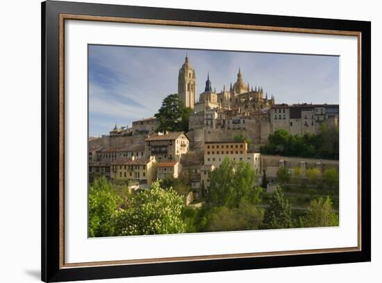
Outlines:
[[339,127],[338,55],[88,44],[88,237],[338,227]]

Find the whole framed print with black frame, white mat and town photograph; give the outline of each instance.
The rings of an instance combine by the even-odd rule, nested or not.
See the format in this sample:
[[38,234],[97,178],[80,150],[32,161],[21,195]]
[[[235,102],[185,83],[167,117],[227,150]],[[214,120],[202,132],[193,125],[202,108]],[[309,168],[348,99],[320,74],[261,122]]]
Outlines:
[[370,261],[370,36],[42,3],[42,280]]

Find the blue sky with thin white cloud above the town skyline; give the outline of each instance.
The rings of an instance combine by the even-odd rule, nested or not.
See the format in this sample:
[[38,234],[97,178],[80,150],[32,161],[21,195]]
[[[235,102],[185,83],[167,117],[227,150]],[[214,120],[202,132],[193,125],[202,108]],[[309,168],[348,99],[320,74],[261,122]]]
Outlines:
[[338,103],[339,57],[130,46],[89,46],[89,135],[117,123],[151,117],[178,91],[178,70],[188,53],[197,76],[197,99],[207,72],[219,92],[235,83],[239,67],[250,87],[263,87],[276,103]]

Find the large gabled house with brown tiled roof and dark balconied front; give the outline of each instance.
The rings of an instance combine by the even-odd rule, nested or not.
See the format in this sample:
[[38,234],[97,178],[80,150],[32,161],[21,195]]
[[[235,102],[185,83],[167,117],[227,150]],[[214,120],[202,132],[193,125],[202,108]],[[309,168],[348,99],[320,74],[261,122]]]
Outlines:
[[155,156],[158,161],[180,161],[190,149],[190,139],[184,132],[153,134],[144,141],[146,156]]

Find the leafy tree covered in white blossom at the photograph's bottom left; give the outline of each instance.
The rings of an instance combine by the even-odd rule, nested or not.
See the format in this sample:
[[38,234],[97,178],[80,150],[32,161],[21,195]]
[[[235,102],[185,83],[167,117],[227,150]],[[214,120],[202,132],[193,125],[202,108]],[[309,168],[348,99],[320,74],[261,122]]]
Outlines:
[[150,189],[133,196],[127,209],[115,214],[115,234],[174,234],[185,232],[182,220],[183,200],[172,189],[162,189],[153,182]]

